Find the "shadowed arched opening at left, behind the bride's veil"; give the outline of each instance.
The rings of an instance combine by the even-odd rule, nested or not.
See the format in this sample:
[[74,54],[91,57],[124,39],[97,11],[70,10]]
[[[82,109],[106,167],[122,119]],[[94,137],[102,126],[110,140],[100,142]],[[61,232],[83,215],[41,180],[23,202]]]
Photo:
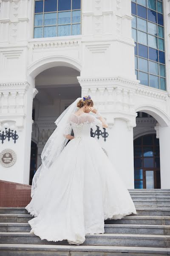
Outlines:
[[[77,80],[79,75],[73,67],[56,66],[43,70],[35,77],[38,93],[33,100],[32,140],[37,143],[36,170],[41,165],[42,149],[56,128],[55,120],[75,99],[81,97],[81,86]],[[31,155],[32,151],[34,148],[31,147]],[[34,176],[32,173],[30,168],[30,184]]]

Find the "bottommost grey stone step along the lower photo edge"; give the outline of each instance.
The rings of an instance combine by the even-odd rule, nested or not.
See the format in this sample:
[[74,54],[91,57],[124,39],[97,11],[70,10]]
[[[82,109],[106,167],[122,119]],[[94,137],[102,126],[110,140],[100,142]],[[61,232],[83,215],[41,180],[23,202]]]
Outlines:
[[2,256],[167,256],[170,248],[54,244],[0,244]]

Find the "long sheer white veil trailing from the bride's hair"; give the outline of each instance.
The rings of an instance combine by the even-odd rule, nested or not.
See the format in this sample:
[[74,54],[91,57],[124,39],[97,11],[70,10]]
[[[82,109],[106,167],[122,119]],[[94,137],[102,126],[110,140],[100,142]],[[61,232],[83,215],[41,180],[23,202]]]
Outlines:
[[42,153],[41,160],[42,164],[37,169],[34,177],[32,179],[31,186],[31,198],[34,195],[35,190],[37,189],[38,183],[41,178],[44,177],[48,168],[54,163],[54,161],[59,157],[59,154],[62,152],[63,148],[68,142],[68,139],[63,136],[63,134],[71,134],[72,127],[69,122],[69,116],[71,113],[76,112],[79,108],[77,103],[81,97],[77,98],[68,108],[61,113],[61,115],[55,121],[57,128],[48,138]]

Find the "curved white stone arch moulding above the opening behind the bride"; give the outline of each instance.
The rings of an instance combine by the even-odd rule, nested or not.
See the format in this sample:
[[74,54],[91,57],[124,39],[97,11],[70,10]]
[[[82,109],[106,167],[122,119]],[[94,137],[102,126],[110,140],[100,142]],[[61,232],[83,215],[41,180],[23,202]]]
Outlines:
[[72,67],[79,72],[81,71],[81,64],[79,61],[70,57],[57,55],[41,58],[38,61],[35,61],[28,67],[28,76],[31,76],[31,78],[34,79],[42,71],[57,66]]

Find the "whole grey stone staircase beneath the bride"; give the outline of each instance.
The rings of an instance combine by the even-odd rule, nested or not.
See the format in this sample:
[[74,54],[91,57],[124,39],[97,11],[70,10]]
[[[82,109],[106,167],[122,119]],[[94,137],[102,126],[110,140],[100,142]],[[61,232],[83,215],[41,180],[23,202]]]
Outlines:
[[170,189],[129,189],[137,215],[106,220],[105,233],[82,245],[41,240],[30,234],[24,208],[0,208],[0,256],[170,255]]

